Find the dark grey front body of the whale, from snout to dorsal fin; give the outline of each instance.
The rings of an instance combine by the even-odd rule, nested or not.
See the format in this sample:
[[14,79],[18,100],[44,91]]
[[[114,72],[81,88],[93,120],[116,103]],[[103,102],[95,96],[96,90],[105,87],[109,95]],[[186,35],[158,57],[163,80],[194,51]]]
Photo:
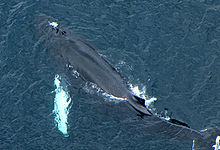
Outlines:
[[96,84],[107,94],[127,99],[141,114],[152,114],[141,99],[136,99],[131,94],[120,74],[88,42],[71,31],[51,29],[48,19],[44,19],[39,28],[41,32],[47,33],[49,39],[45,45],[60,68],[68,70],[67,74],[76,71],[80,78]]

